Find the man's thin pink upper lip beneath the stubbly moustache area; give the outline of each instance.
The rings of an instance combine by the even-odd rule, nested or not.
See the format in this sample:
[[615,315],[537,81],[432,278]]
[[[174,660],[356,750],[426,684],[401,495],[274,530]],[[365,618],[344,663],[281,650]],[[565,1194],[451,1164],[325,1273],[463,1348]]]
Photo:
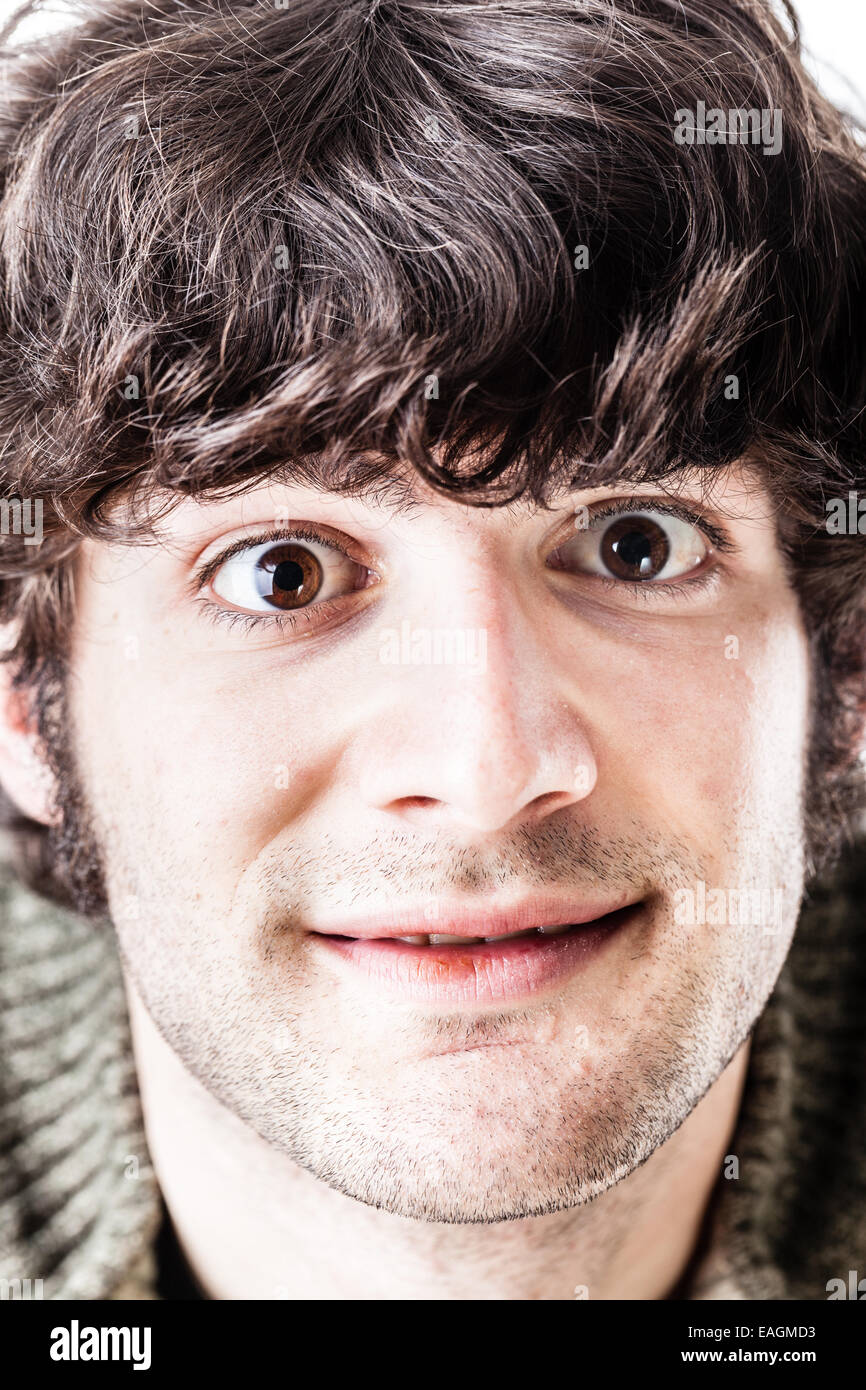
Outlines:
[[[534,927],[577,926],[595,922],[621,908],[628,908],[639,899],[635,897],[589,899],[539,898],[534,895],[507,906],[491,902],[461,901],[448,903],[442,899],[428,899],[402,908],[388,908],[339,920],[321,920],[307,930],[328,937],[359,937],[373,941],[377,937],[409,935],[453,935],[453,937],[507,937],[513,931],[530,931]],[[434,910],[431,910],[431,908]]]

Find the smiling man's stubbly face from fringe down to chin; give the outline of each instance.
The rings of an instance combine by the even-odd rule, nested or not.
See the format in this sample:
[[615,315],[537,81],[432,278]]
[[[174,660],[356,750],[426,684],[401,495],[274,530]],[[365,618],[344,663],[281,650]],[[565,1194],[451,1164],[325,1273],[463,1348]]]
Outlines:
[[767,999],[806,641],[746,473],[677,516],[416,491],[89,542],[75,758],[128,976],[215,1097],[361,1201],[541,1213],[669,1138]]

